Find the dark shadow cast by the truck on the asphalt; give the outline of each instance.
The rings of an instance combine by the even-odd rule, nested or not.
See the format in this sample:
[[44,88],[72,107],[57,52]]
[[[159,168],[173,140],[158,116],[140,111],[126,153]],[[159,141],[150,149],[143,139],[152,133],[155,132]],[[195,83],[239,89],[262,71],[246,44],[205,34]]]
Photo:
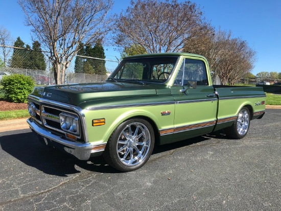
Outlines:
[[[156,146],[153,154],[190,146],[196,143],[205,143],[205,141],[212,138],[225,139],[220,133],[199,136],[181,142]],[[76,166],[92,172],[120,173],[108,166],[102,156],[92,157],[88,161],[83,161],[56,149],[43,146],[33,132],[2,136],[0,146],[2,150],[19,161],[30,167],[34,167],[45,174],[67,177],[69,174],[80,173]]]

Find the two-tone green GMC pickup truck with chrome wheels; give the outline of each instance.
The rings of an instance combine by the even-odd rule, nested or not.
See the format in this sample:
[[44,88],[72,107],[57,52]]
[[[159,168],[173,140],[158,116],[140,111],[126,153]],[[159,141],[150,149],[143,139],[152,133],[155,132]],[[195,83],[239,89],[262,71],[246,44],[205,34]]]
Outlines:
[[202,56],[148,54],[123,59],[102,83],[35,87],[27,122],[47,146],[81,160],[102,154],[128,172],[155,145],[221,129],[243,138],[250,120],[263,117],[265,100],[262,87],[212,85]]

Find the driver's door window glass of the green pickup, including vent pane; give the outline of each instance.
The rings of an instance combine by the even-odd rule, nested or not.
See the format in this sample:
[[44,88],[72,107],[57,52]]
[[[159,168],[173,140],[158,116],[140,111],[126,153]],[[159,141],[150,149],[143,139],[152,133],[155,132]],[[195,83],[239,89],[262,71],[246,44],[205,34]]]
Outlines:
[[197,86],[208,85],[205,63],[197,59],[184,59],[178,71],[175,85],[189,85],[196,82]]

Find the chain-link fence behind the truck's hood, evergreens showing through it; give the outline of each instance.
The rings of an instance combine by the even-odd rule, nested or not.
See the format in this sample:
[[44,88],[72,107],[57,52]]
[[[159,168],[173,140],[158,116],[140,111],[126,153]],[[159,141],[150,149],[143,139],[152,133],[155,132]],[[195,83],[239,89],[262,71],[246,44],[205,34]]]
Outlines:
[[[36,85],[55,84],[54,71],[45,52],[31,49],[1,46],[8,55],[0,52],[0,80],[7,75],[31,76]],[[90,56],[76,56],[66,69],[65,83],[94,83],[106,80],[119,61]],[[0,99],[4,98],[0,86]]]

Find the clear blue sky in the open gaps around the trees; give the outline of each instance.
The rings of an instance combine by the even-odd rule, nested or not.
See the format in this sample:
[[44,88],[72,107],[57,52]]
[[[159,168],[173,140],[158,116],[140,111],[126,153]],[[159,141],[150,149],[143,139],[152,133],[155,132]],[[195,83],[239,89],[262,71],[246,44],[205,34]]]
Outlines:
[[[248,42],[256,52],[252,73],[281,72],[281,1],[261,0],[194,0],[205,18],[216,29],[231,31],[233,37]],[[120,13],[130,5],[130,0],[115,0],[113,13]],[[25,26],[25,14],[16,0],[0,0],[0,26],[10,31],[16,39],[20,37],[27,44],[32,43],[29,27]],[[118,51],[105,46],[108,59],[120,57]]]

